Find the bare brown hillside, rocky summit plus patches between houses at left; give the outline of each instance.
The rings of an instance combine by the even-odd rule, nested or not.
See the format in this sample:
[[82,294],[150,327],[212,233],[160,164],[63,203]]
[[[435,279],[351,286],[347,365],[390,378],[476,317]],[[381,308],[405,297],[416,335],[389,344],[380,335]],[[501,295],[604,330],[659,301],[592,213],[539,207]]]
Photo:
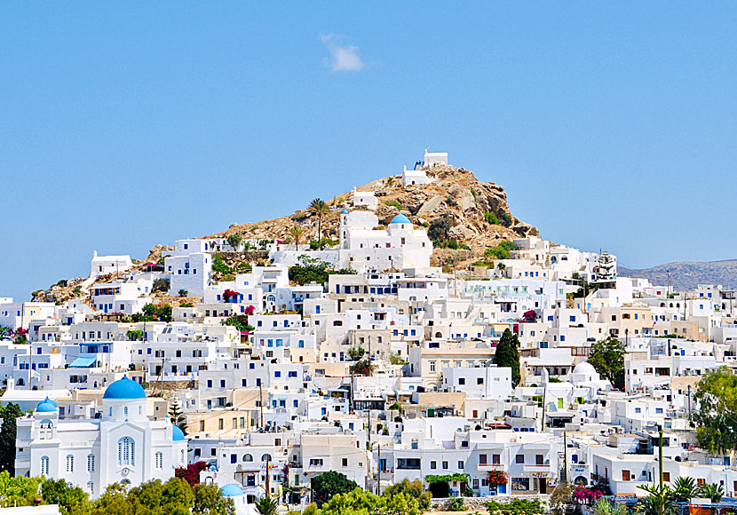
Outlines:
[[[511,240],[522,235],[538,235],[537,228],[530,226],[512,215],[507,205],[507,195],[503,186],[492,182],[479,181],[471,171],[452,166],[435,166],[427,175],[433,182],[423,186],[402,186],[401,175],[379,178],[367,185],[357,188],[358,191],[374,192],[378,200],[376,216],[380,224],[388,224],[397,214],[402,213],[412,220],[416,226],[430,227],[432,221],[439,217],[448,217],[450,228],[443,248],[435,248],[432,253],[432,265],[445,265],[456,262],[457,265],[468,265],[483,256],[484,251],[495,247],[498,243]],[[305,199],[305,209],[297,210],[292,215],[264,220],[248,224],[234,224],[225,231],[203,236],[203,238],[227,237],[233,234],[247,240],[271,240],[290,238],[289,229],[300,226],[303,230],[302,243],[318,239],[318,221],[308,209],[312,199]],[[338,237],[340,212],[351,208],[352,192],[337,195],[332,199],[323,199],[329,204],[330,212],[322,218],[322,236],[333,240]],[[361,208],[365,209],[365,208]],[[437,242],[436,242],[437,243]],[[455,247],[455,248],[454,248]],[[156,245],[149,250],[147,258],[134,260],[134,270],[143,270],[145,264],[162,262],[170,247]],[[264,253],[222,253],[226,264],[238,268],[245,262],[265,262]],[[124,276],[99,278],[98,282],[113,281]],[[213,273],[218,280],[221,274]],[[33,292],[34,300],[62,302],[72,297],[83,297],[84,278],[62,280],[49,289]],[[162,291],[155,292],[163,297]],[[187,298],[169,299],[174,305],[189,301]]]

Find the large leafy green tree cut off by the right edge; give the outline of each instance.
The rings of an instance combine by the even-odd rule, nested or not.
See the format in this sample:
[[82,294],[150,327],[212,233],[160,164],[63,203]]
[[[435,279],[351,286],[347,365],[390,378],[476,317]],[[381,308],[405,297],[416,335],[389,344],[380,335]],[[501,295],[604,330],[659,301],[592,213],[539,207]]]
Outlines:
[[693,400],[697,408],[691,419],[699,446],[712,453],[737,449],[737,376],[726,367],[707,372]]

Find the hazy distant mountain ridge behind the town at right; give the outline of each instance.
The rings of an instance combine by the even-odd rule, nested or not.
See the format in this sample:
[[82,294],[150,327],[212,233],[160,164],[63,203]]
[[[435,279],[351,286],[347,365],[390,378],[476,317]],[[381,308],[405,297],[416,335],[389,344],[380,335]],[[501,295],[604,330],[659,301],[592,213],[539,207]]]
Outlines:
[[668,284],[669,270],[670,283],[677,291],[694,289],[699,284],[721,284],[725,288],[737,289],[737,259],[678,261],[641,269],[617,267],[617,273],[622,277],[641,277],[661,286]]

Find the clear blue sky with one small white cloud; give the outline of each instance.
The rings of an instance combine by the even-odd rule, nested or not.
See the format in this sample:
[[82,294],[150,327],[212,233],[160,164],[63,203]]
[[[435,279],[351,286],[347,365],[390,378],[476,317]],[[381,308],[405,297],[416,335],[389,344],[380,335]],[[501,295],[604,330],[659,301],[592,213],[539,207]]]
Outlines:
[[734,3],[0,4],[0,296],[428,143],[555,242],[737,258],[735,26]]

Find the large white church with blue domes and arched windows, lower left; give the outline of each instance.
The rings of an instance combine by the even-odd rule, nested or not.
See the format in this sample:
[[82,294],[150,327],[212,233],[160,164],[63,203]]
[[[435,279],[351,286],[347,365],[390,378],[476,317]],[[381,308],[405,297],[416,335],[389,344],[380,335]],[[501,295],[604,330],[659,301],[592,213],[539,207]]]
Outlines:
[[146,403],[146,392],[127,376],[107,386],[102,412],[92,417],[59,418],[46,398],[18,419],[16,474],[66,479],[92,497],[115,482],[170,479],[186,466],[186,438],[168,418],[149,420]]

